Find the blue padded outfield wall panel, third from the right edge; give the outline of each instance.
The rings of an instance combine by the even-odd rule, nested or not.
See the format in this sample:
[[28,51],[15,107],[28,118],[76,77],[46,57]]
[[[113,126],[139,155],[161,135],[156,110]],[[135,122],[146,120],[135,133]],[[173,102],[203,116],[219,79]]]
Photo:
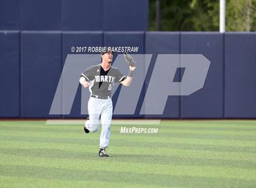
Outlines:
[[[155,59],[158,54],[179,54],[180,53],[180,33],[178,32],[146,32],[145,53],[152,54],[153,59],[146,77],[148,86],[152,70],[154,69]],[[157,98],[156,98],[157,99]],[[165,110],[162,118],[180,117],[180,96],[169,96],[166,101]]]

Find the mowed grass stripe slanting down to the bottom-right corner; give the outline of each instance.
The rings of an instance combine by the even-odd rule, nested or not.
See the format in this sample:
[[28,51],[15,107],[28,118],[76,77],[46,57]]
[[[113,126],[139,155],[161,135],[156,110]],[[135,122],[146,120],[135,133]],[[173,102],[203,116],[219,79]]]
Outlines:
[[[227,186],[249,186],[254,187],[255,181],[246,181],[238,179],[222,179],[222,178],[205,178],[205,177],[191,177],[191,176],[170,176],[170,175],[151,175],[151,174],[141,174],[141,173],[128,173],[128,172],[106,172],[105,170],[97,171],[91,170],[90,172],[85,170],[68,170],[65,169],[49,169],[46,167],[25,167],[25,166],[4,166],[6,171],[16,176],[21,177],[32,177],[34,178],[44,178],[50,180],[73,180],[74,186],[76,181],[89,180],[92,182],[96,180],[98,182],[99,178],[104,184],[104,187],[108,187],[115,183],[127,183],[135,185],[143,184],[146,187],[227,187]],[[19,173],[20,172],[20,173]],[[45,182],[48,184],[48,182]],[[86,184],[83,186],[85,187]],[[59,187],[59,186],[58,186]],[[73,186],[72,186],[73,187]],[[86,186],[87,187],[87,186]],[[90,186],[88,186],[90,187]],[[93,186],[94,187],[94,186]]]

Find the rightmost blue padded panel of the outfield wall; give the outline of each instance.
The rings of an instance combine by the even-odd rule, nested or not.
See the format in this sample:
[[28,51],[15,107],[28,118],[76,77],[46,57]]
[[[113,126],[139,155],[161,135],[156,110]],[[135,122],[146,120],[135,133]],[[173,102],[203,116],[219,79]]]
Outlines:
[[256,33],[225,34],[225,118],[256,118]]

